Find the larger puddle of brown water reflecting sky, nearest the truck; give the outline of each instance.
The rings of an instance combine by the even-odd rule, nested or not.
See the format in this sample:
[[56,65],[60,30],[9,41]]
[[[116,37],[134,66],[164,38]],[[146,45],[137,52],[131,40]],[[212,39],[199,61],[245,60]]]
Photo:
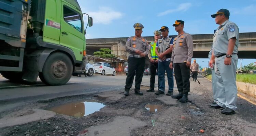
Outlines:
[[49,108],[49,111],[57,114],[64,114],[73,117],[83,117],[100,111],[105,105],[95,100],[86,100],[84,102],[66,103],[60,106]]

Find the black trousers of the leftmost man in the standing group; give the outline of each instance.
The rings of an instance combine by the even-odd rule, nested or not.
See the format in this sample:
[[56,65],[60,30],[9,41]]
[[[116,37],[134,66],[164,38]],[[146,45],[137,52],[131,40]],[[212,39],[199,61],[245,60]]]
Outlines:
[[145,57],[137,58],[137,57],[129,57],[128,58],[128,75],[126,77],[125,82],[125,90],[130,90],[132,86],[132,82],[134,79],[134,74],[136,72],[135,77],[135,90],[140,90],[140,84],[142,81],[143,73],[145,67]]

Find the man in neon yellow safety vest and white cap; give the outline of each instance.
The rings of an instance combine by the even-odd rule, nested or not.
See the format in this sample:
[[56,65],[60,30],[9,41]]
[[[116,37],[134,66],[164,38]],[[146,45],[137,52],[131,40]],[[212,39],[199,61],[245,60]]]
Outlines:
[[[155,88],[155,79],[156,79],[156,70],[157,70],[157,63],[158,63],[158,56],[156,55],[156,43],[159,38],[161,38],[161,31],[156,30],[154,31],[154,38],[155,41],[150,43],[150,53],[147,54],[148,58],[150,59],[150,89],[146,90],[147,92],[154,92]],[[159,86],[159,82],[158,82]]]

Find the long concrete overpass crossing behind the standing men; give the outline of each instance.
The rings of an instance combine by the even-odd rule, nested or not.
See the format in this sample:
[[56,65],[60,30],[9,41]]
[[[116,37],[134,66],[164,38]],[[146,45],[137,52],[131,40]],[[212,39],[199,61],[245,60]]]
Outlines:
[[[176,35],[173,35],[175,37]],[[193,37],[193,58],[208,58],[208,53],[213,42],[213,34],[195,34]],[[110,48],[113,54],[126,59],[125,44],[128,37],[87,39],[86,50],[88,55],[93,55],[100,48]],[[154,41],[154,36],[145,37],[149,42]],[[256,58],[256,32],[240,33],[239,58]]]

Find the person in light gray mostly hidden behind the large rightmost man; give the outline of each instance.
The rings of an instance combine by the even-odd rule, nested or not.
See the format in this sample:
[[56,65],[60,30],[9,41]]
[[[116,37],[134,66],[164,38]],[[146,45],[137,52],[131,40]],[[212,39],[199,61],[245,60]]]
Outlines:
[[[214,33],[214,36],[213,36],[213,43],[214,43],[214,41],[216,40],[216,32],[217,30],[214,30],[213,31],[213,33]],[[212,57],[212,49],[213,49],[213,45],[212,45],[212,48],[211,48],[211,50],[210,50],[210,52],[209,52],[209,54],[208,54],[208,57],[209,57],[209,59],[211,60],[211,57]],[[212,70],[212,92],[213,92],[213,103],[212,104],[216,104],[216,102],[217,102],[217,93],[218,93],[218,91],[217,91],[217,88],[216,88],[216,75],[215,75],[215,72],[214,72],[214,66],[211,68],[211,70]]]

